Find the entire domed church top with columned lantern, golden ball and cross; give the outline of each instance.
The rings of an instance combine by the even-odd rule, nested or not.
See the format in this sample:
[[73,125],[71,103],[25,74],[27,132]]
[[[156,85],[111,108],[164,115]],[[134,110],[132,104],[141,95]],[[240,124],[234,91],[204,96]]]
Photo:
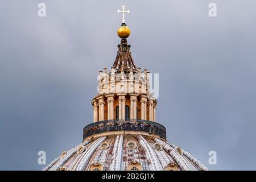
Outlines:
[[126,40],[129,27],[122,23],[117,34],[122,40],[114,64],[97,78],[93,123],[84,127],[82,143],[63,151],[43,170],[208,170],[189,152],[167,142],[166,128],[156,122],[158,101],[151,93],[150,72],[134,63]]

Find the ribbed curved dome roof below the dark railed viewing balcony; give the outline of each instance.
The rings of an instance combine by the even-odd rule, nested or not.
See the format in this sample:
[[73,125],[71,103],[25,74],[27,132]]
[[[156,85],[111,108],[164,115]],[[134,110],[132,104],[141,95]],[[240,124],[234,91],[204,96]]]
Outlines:
[[64,151],[43,170],[187,171],[208,170],[189,152],[156,136],[142,134],[89,137]]

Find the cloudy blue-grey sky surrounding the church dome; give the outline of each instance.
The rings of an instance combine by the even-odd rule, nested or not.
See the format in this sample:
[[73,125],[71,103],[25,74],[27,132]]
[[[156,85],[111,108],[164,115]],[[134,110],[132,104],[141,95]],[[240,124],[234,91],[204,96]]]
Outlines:
[[1,1],[0,169],[42,169],[38,151],[49,163],[82,141],[98,71],[114,63],[123,2],[135,64],[159,73],[156,119],[168,141],[209,169],[255,170],[255,0]]

